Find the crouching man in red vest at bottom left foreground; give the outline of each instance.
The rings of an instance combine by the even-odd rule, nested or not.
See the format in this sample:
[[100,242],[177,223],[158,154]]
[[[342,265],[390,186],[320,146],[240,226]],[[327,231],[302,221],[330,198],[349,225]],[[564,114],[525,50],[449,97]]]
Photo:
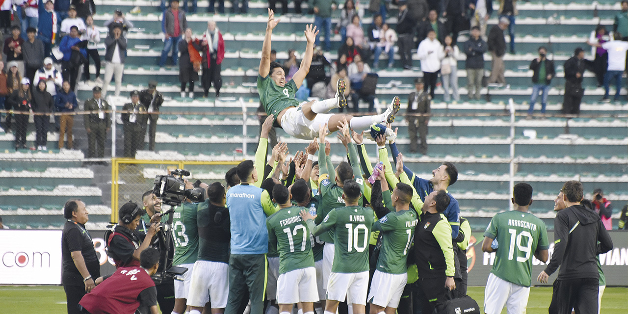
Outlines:
[[159,268],[160,254],[148,248],[140,254],[141,264],[119,268],[100,282],[80,300],[82,313],[140,313],[159,314],[157,290],[151,276]]

